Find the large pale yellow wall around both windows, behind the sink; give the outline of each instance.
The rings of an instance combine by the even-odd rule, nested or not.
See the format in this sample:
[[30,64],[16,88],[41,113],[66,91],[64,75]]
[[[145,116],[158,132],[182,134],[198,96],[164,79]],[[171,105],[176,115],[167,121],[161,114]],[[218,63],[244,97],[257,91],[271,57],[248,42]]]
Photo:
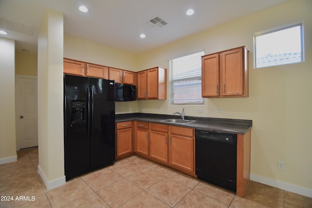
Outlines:
[[[251,119],[252,176],[307,188],[311,194],[311,9],[311,0],[292,0],[140,55],[139,69],[148,69],[156,65],[169,68],[168,59],[199,48],[205,54],[242,45],[250,50],[248,98],[205,98],[201,106],[172,106],[168,99],[139,101],[139,111],[171,114],[185,108],[186,115]],[[254,33],[298,22],[304,27],[305,62],[254,69]],[[217,112],[218,106],[222,113]],[[199,108],[203,113],[196,112]],[[278,161],[285,162],[285,170],[277,168]]]

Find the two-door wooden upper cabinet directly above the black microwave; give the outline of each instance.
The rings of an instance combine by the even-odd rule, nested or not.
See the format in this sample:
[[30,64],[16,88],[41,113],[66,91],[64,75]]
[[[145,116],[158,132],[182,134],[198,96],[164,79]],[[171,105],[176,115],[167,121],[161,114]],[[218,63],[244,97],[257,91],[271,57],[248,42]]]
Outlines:
[[109,68],[109,79],[115,80],[117,83],[134,85],[135,73],[122,69]]

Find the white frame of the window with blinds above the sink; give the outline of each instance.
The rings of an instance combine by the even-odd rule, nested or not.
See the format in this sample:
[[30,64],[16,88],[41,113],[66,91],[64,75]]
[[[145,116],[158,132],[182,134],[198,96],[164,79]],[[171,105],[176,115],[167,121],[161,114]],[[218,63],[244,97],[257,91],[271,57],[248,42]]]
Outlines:
[[[204,104],[204,98],[201,96],[202,101],[201,102],[183,102],[183,103],[174,103],[174,83],[175,82],[183,82],[183,81],[196,81],[199,80],[200,81],[200,89],[201,89],[201,80],[202,80],[202,73],[201,73],[201,67],[200,67],[200,76],[194,76],[194,77],[184,77],[184,78],[177,78],[177,79],[173,79],[173,60],[177,59],[177,58],[181,58],[181,57],[187,57],[190,55],[194,55],[197,53],[201,53],[200,54],[200,66],[201,66],[201,57],[204,56],[204,50],[200,49],[200,50],[196,50],[190,53],[185,53],[185,54],[181,54],[179,56],[173,57],[169,59],[169,96],[170,96],[170,104],[171,105],[203,105]],[[200,94],[201,94],[201,90],[200,90]]]

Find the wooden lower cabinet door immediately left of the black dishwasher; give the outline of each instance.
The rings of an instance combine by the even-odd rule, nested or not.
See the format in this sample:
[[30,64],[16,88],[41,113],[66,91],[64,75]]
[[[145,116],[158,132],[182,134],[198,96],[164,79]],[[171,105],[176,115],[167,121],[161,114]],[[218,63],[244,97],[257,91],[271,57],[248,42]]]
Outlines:
[[194,138],[170,134],[169,164],[194,172]]

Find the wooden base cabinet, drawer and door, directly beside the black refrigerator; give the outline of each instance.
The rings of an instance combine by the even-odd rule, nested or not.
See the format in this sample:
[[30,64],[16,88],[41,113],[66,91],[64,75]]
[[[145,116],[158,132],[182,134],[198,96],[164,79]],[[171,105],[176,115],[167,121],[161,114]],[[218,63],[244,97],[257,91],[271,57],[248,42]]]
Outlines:
[[132,154],[132,122],[116,124],[116,159]]

